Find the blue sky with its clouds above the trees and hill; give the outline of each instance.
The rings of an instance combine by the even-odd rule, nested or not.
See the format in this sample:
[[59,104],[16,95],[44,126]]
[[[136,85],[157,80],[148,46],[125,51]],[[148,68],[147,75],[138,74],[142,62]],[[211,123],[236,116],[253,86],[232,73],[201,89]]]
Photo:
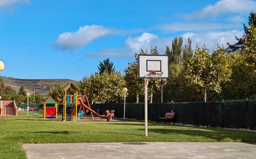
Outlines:
[[225,47],[242,37],[255,9],[253,0],[0,0],[0,75],[80,80],[105,58],[123,72],[134,52],[164,53],[176,36]]

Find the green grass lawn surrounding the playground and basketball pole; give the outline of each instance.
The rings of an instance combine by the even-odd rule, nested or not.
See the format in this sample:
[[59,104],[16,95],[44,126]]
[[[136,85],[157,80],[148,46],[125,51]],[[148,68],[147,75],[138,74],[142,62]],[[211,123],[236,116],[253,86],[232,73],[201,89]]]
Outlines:
[[256,142],[255,132],[149,122],[62,122],[40,116],[0,117],[0,158],[26,158],[22,144],[68,142]]

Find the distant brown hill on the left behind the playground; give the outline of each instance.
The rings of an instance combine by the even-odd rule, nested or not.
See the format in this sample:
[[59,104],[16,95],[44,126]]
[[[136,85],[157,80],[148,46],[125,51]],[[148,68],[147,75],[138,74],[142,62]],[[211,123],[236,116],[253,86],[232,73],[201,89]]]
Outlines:
[[63,82],[74,82],[70,79],[15,79],[12,77],[1,77],[5,85],[9,85],[19,92],[19,88],[23,86],[30,93],[40,93],[47,95],[50,87],[62,84]]

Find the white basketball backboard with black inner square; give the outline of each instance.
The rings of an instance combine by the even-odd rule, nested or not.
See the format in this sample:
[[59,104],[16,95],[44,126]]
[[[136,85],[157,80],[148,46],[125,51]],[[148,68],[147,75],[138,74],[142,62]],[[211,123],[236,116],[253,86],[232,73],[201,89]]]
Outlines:
[[161,72],[162,79],[169,77],[168,56],[165,55],[139,55],[139,77],[150,79],[150,72]]

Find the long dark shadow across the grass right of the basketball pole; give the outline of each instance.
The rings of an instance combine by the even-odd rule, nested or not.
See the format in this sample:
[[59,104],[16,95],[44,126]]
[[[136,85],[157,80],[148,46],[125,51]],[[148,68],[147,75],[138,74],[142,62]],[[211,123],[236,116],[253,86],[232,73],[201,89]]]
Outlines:
[[[141,129],[144,130],[144,129]],[[149,132],[155,132],[158,134],[183,134],[193,137],[205,137],[216,141],[223,142],[225,139],[231,139],[241,142],[256,142],[255,132],[239,132],[239,131],[227,131],[224,129],[201,129],[201,130],[181,130],[181,129],[149,129]]]

